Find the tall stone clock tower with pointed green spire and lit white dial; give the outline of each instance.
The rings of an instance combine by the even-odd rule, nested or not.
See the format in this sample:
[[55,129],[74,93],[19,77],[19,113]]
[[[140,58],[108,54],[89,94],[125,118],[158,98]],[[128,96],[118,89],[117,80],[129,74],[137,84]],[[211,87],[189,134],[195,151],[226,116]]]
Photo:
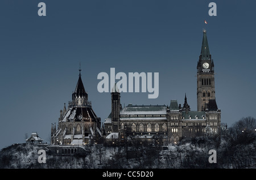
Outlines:
[[209,100],[215,100],[214,64],[204,29],[201,54],[197,62],[197,111],[208,109]]

